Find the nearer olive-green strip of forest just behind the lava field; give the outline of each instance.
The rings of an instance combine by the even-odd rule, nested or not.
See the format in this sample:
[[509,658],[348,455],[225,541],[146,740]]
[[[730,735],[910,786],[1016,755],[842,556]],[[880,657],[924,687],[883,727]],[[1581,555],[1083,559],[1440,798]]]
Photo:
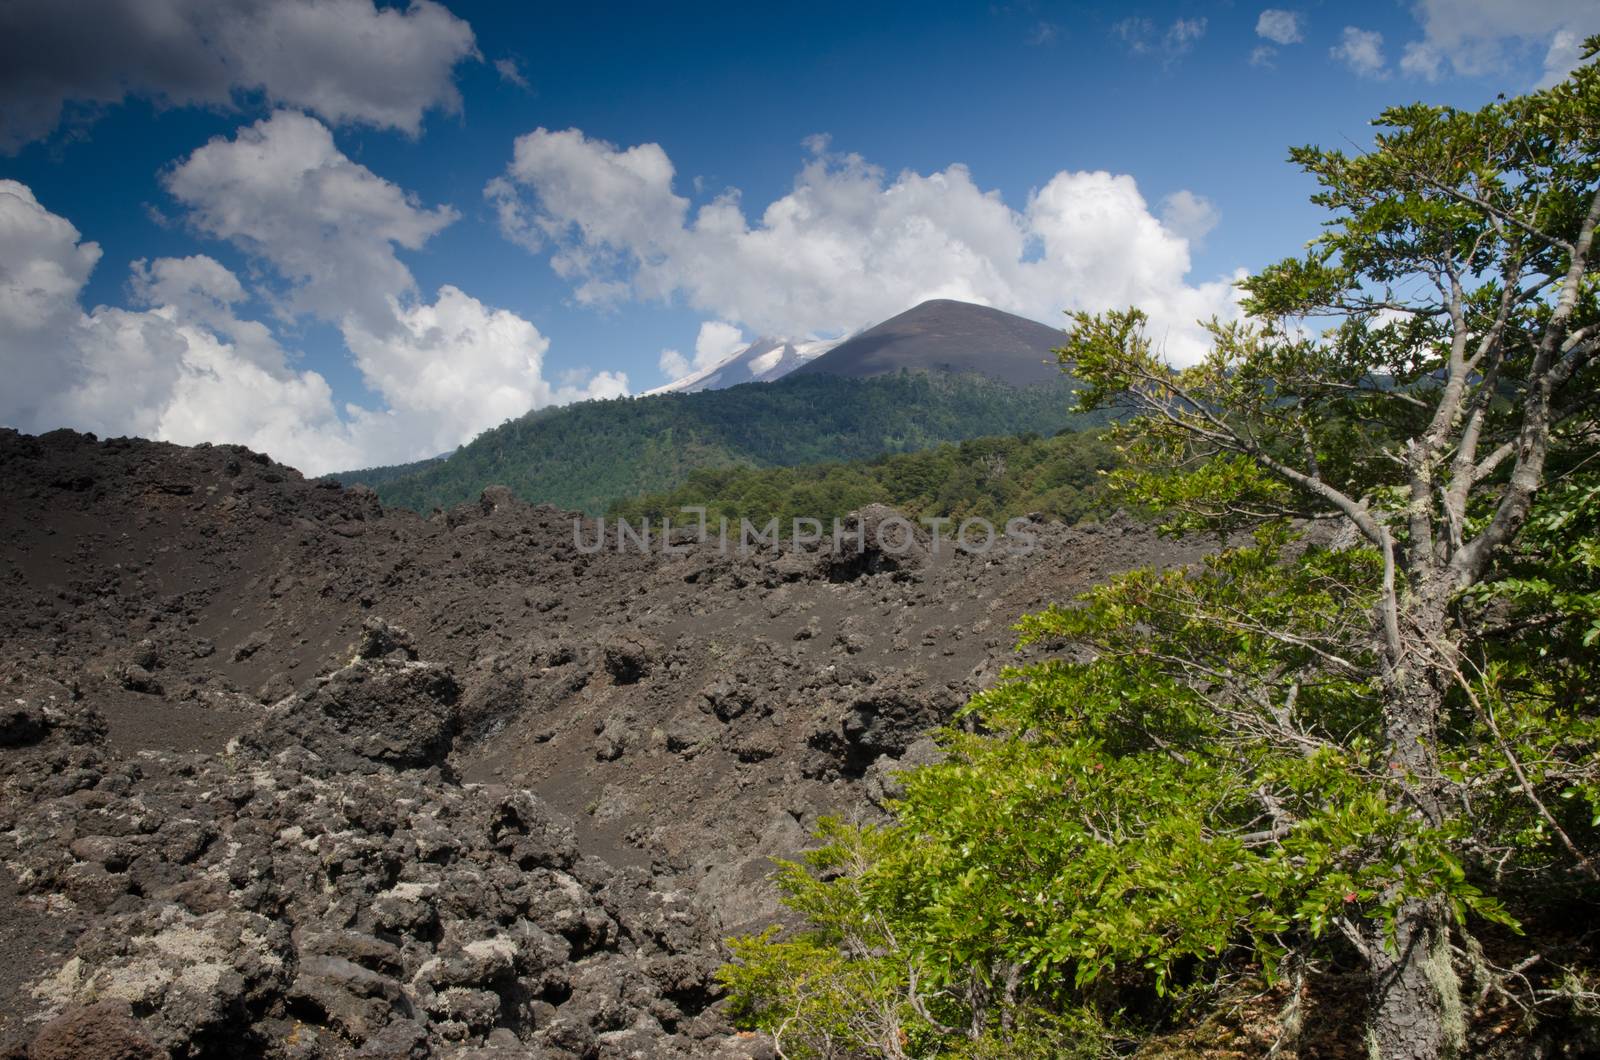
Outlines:
[[803,468],[723,468],[690,472],[675,490],[619,501],[621,519],[680,519],[685,506],[730,522],[776,516],[827,520],[890,504],[907,516],[981,517],[1000,524],[1045,512],[1078,519],[1107,512],[1102,471],[1115,464],[1110,445],[1093,431],[1054,437],[984,437],[850,463]]

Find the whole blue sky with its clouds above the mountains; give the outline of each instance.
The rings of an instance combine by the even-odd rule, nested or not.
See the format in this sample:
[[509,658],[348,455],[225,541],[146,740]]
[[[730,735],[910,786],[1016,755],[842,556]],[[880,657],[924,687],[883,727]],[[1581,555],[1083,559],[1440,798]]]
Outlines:
[[0,421],[326,471],[936,295],[1149,303],[1184,359],[1315,234],[1290,144],[1530,90],[1600,29],[1277,3],[22,0]]

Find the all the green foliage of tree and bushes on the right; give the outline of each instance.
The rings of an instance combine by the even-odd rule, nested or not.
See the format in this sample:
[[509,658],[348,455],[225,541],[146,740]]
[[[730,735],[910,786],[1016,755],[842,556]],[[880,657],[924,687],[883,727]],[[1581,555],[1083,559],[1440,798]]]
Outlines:
[[[1034,661],[894,823],[784,871],[810,930],[746,940],[730,983],[794,1054],[837,1055],[808,1034],[840,1012],[877,1055],[1038,1012],[1125,1049],[1330,961],[1366,967],[1379,1057],[1462,1049],[1474,1006],[1594,1018],[1600,70],[1379,125],[1293,152],[1328,227],[1202,363],[1138,309],[1075,317],[1083,405],[1128,413],[1120,493],[1250,544],[1024,620]],[[886,1001],[827,994],[869,964]]]

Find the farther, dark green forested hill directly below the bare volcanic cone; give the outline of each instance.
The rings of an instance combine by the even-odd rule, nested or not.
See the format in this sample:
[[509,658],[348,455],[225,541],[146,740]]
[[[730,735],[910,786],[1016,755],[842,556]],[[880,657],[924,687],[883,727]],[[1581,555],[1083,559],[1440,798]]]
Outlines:
[[1070,381],[1019,389],[942,373],[869,379],[806,373],[723,391],[542,408],[398,476],[376,469],[334,477],[365,482],[384,503],[418,511],[506,485],[526,501],[600,514],[621,498],[672,490],[699,469],[906,453],[978,437],[995,424],[1050,434],[1106,421],[1102,413],[1070,412]]

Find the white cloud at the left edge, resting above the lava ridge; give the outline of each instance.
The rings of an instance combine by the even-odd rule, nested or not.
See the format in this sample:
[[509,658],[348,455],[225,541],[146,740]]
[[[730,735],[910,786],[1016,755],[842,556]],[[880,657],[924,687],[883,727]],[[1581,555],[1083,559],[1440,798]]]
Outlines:
[[218,261],[136,263],[152,307],[86,312],[98,245],[16,181],[0,181],[0,421],[245,442],[317,469],[358,453],[320,375],[288,370],[282,351],[258,362],[259,333],[227,311],[243,288]]

